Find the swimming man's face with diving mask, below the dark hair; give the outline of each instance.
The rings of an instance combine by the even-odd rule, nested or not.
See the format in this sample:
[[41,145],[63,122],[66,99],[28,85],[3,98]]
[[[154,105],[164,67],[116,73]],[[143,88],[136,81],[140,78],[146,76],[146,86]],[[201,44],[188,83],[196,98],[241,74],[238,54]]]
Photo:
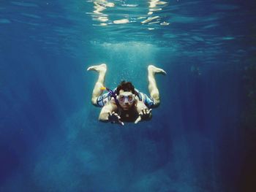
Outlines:
[[135,101],[135,96],[132,91],[120,90],[118,95],[118,102],[123,110],[129,110]]

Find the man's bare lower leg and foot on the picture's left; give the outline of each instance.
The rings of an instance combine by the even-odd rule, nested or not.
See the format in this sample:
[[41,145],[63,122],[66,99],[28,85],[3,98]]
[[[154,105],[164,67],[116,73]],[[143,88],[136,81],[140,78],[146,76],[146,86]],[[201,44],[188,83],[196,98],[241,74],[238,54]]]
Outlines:
[[104,86],[105,82],[105,74],[107,72],[107,65],[106,64],[100,64],[96,66],[89,66],[87,71],[96,71],[99,72],[99,77],[97,82],[94,85],[94,90],[92,91],[92,96],[91,96],[91,103],[94,105],[97,105],[97,98],[102,95],[102,88]]

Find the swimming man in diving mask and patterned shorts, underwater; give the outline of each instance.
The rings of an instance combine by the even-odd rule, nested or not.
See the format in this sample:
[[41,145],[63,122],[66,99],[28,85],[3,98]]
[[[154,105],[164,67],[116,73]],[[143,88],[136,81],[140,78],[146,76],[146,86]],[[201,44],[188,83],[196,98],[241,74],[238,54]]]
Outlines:
[[[106,64],[90,66],[87,69],[87,71],[91,70],[99,73],[92,92],[91,102],[94,106],[102,107],[99,113],[100,121],[119,123],[124,126],[124,121],[138,123],[141,120],[151,119],[151,109],[160,104],[159,90],[154,74],[166,74],[163,69],[153,65],[148,66],[148,91],[151,98],[136,90],[131,82],[121,82],[115,91],[105,88]],[[102,94],[103,90],[107,90],[109,93]]]

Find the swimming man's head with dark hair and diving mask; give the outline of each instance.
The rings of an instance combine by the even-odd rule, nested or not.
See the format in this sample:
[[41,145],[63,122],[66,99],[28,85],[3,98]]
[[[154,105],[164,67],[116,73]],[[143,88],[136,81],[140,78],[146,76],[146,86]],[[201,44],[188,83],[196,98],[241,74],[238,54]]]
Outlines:
[[132,82],[122,81],[116,88],[118,102],[123,110],[129,110],[135,104],[135,87]]

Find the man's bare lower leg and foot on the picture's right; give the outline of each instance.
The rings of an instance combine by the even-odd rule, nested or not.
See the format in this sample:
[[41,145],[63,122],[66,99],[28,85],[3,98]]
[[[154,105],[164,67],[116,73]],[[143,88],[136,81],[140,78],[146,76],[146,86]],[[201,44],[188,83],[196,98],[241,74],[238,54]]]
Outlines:
[[163,69],[157,68],[156,66],[149,65],[148,66],[148,91],[150,93],[150,96],[154,99],[154,107],[158,107],[160,104],[160,96],[159,96],[159,90],[157,88],[157,82],[154,77],[154,74],[156,73],[162,73],[166,74],[166,72]]

